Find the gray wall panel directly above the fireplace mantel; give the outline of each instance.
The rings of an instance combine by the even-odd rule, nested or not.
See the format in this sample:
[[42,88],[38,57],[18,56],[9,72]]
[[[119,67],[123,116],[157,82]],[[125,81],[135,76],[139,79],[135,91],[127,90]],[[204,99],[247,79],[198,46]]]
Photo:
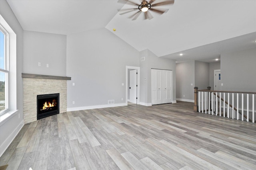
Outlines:
[[24,31],[23,41],[24,73],[66,76],[66,35]]

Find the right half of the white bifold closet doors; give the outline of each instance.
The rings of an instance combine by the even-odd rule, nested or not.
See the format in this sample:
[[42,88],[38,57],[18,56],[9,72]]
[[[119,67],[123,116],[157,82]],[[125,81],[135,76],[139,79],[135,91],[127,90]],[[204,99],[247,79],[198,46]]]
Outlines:
[[162,70],[162,103],[172,103],[172,71]]

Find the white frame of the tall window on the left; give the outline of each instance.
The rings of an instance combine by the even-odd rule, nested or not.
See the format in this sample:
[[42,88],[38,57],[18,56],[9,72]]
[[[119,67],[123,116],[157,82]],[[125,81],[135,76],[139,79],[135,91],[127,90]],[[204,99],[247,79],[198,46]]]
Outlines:
[[9,60],[10,60],[10,48],[9,48],[9,33],[4,29],[0,24],[0,31],[4,34],[4,69],[0,68],[1,72],[6,73],[5,78],[5,109],[0,111],[0,116],[10,110],[10,91],[9,91],[9,82],[10,82],[10,72],[9,72]]

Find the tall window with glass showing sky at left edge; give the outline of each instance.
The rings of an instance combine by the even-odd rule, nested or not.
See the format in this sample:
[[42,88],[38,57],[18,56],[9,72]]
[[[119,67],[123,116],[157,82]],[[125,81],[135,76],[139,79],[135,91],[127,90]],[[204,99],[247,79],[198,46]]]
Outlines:
[[9,110],[9,35],[0,25],[0,115]]

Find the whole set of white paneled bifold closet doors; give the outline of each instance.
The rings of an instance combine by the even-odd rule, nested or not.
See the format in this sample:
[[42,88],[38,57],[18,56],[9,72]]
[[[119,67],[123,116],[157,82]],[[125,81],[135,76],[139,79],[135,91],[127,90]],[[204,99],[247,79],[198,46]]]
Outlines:
[[151,69],[151,103],[172,103],[172,70]]

